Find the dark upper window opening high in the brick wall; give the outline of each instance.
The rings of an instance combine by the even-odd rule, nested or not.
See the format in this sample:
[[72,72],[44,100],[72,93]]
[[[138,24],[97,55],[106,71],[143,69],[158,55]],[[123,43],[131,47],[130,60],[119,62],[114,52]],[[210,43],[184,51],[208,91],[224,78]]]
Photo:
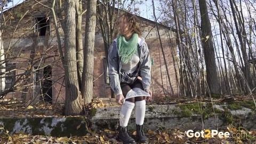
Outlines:
[[[36,32],[39,32],[39,36],[45,36],[46,30],[50,31],[50,19],[49,17],[37,17],[36,18]],[[50,35],[50,33],[49,33]]]

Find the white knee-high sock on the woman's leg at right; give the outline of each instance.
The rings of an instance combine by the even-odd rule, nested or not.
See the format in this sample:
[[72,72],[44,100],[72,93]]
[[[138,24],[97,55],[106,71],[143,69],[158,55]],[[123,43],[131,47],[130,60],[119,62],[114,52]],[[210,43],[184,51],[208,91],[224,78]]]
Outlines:
[[136,124],[142,125],[144,123],[145,113],[146,113],[146,100],[135,101]]

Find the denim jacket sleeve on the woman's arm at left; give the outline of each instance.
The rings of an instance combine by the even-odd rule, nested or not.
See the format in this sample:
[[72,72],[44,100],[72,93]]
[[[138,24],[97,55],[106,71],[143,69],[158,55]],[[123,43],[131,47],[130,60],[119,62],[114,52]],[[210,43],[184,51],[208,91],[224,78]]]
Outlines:
[[119,79],[119,57],[116,44],[110,45],[108,50],[108,75],[110,78],[110,87],[116,95],[123,94]]

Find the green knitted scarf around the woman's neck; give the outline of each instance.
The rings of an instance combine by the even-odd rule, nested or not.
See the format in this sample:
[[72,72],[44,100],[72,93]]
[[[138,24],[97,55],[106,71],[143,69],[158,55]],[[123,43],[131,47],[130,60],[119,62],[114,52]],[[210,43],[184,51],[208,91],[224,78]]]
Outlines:
[[131,61],[133,54],[137,52],[138,38],[138,34],[134,33],[131,39],[126,41],[124,36],[118,35],[118,54],[121,56],[121,61],[123,63]]

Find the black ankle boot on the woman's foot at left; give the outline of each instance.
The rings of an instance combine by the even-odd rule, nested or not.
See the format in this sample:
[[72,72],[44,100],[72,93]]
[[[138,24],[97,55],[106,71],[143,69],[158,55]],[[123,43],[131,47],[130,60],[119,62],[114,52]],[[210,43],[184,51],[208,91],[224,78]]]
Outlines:
[[129,135],[127,132],[127,127],[118,127],[119,129],[119,134],[118,134],[118,140],[122,141],[123,144],[130,144],[130,143],[136,143],[135,140]]

